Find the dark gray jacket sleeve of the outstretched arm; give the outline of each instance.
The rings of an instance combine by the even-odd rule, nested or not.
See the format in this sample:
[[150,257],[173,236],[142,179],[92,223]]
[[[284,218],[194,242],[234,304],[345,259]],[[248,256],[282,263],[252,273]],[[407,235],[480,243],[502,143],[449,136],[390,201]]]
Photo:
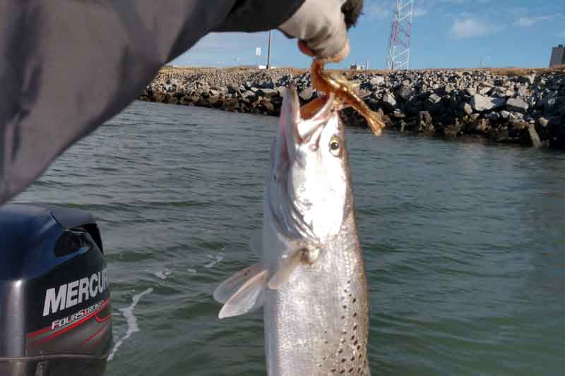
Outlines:
[[303,0],[0,2],[0,204],[210,31],[277,28]]

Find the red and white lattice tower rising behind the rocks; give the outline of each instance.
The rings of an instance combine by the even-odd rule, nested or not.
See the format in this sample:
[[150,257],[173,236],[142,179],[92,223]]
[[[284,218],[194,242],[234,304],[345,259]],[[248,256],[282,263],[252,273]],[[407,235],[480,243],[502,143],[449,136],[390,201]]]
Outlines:
[[393,71],[410,68],[413,3],[412,0],[396,0],[391,38],[388,42],[388,56],[386,56],[386,67]]

